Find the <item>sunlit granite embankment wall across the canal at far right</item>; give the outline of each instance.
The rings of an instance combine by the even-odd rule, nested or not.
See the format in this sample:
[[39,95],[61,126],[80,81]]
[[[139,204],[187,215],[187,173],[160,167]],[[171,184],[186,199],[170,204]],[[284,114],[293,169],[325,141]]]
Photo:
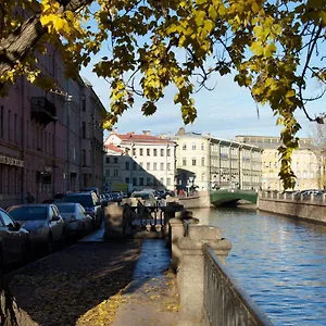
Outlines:
[[259,196],[258,209],[281,215],[294,216],[315,223],[326,224],[326,202],[302,201],[299,199],[262,198]]

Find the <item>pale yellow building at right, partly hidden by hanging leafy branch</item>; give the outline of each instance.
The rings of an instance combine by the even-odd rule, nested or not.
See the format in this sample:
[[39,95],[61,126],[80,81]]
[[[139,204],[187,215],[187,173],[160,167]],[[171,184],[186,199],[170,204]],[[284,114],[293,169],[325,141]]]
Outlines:
[[[236,140],[243,143],[259,146],[262,153],[262,188],[267,190],[284,190],[278,173],[280,161],[278,147],[281,146],[279,137],[271,136],[237,136]],[[293,173],[297,176],[294,189],[318,189],[321,170],[318,168],[317,156],[313,150],[311,138],[301,138],[299,149],[294,151],[291,163]]]

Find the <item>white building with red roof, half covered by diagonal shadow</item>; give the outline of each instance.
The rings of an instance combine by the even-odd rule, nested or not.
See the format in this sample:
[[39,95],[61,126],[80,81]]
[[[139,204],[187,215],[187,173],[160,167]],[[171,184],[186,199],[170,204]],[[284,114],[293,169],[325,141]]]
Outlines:
[[154,137],[145,130],[134,133],[112,133],[104,141],[103,171],[105,186],[115,190],[120,184],[134,189],[175,188],[175,142]]

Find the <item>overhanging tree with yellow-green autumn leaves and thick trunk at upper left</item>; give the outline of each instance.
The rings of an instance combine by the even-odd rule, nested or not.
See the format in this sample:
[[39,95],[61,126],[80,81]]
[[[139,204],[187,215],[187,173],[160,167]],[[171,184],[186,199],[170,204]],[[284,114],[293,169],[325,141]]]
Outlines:
[[[306,101],[324,95],[326,70],[325,0],[16,0],[1,5],[0,83],[25,75],[49,87],[36,67],[35,53],[57,43],[73,76],[104,41],[110,52],[95,64],[110,82],[112,127],[136,95],[145,115],[153,114],[167,86],[175,86],[175,104],[184,122],[197,116],[193,91],[205,87],[214,73],[234,74],[258,104],[268,104],[281,124],[279,148],[285,188],[294,185],[291,153],[298,147],[300,125],[296,110],[312,118]],[[22,8],[17,13],[16,8]],[[60,40],[60,41],[59,41]],[[210,65],[208,65],[210,62]],[[193,83],[197,76],[198,83]],[[306,98],[308,83],[321,93]],[[136,83],[137,82],[137,83]],[[136,86],[137,85],[137,86]]]

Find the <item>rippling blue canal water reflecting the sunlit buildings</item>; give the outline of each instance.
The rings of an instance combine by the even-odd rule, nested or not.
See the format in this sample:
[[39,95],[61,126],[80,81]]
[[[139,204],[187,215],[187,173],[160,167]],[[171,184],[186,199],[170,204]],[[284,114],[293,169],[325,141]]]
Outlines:
[[326,226],[248,209],[192,210],[222,228],[226,260],[274,325],[326,325]]

